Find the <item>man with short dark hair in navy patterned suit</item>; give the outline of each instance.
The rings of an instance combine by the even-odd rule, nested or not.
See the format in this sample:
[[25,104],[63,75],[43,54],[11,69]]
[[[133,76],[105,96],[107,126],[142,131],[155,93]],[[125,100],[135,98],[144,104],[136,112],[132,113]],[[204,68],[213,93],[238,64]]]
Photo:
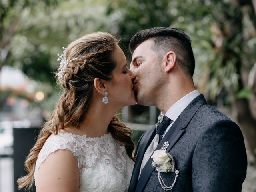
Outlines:
[[[156,106],[163,115],[138,142],[129,192],[240,192],[247,168],[244,138],[196,90],[190,38],[158,27],[135,34],[129,48],[137,103]],[[173,168],[158,172],[150,157],[163,146]]]

